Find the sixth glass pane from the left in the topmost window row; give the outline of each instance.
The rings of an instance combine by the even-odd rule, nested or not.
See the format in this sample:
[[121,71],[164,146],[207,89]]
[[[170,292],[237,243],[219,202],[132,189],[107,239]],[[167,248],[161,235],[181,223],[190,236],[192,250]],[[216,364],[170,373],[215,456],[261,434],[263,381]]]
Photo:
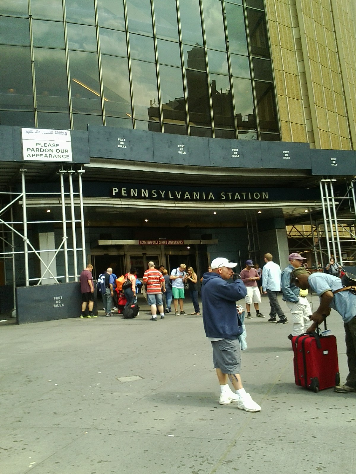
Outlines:
[[154,0],[156,35],[178,41],[177,9],[175,1]]

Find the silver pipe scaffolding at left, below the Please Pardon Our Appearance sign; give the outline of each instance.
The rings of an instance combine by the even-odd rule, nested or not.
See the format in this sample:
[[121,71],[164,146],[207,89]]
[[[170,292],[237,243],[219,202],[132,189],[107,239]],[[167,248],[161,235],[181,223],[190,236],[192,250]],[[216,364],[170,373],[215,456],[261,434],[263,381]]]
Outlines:
[[[4,275],[5,284],[9,284],[7,280],[7,273],[12,273],[12,287],[14,296],[14,305],[16,305],[16,263],[20,258],[24,259],[24,271],[25,271],[25,285],[29,286],[32,284],[40,285],[46,283],[46,280],[52,280],[55,283],[59,283],[60,279],[65,279],[65,282],[78,281],[78,252],[82,255],[83,267],[87,265],[87,256],[85,249],[85,232],[84,232],[84,206],[83,206],[83,184],[82,175],[84,170],[64,169],[63,167],[58,170],[60,177],[60,191],[57,192],[28,192],[26,190],[26,168],[21,168],[21,191],[2,191],[0,192],[2,209],[0,209],[0,223],[2,224],[2,236],[3,242],[2,252],[0,252],[0,258],[4,264]],[[73,176],[78,179],[78,191],[74,190]],[[65,179],[68,179],[69,191],[65,188]],[[56,203],[59,201],[62,219],[61,220],[28,220],[28,210],[30,208],[38,208],[38,196],[43,197],[46,195],[51,198],[56,198]],[[4,201],[6,204],[4,205]],[[30,202],[29,202],[30,201]],[[22,219],[14,220],[14,215],[18,215],[18,208],[15,206],[22,206]],[[75,211],[79,208],[79,219],[76,218]],[[69,216],[67,218],[67,214]],[[78,212],[77,212],[78,214]],[[8,219],[6,219],[8,217]],[[63,230],[63,236],[60,244],[57,248],[39,249],[36,248],[36,244],[30,241],[28,238],[29,228],[32,225],[41,224],[58,224],[59,228]],[[76,227],[81,228],[80,241],[81,245],[77,245],[77,233]],[[8,232],[5,233],[5,228]],[[67,229],[72,233],[72,246],[68,246],[68,235]],[[10,233],[11,238],[6,238],[6,235]],[[16,237],[23,240],[23,249],[18,249],[19,245],[16,246]],[[32,239],[33,240],[33,239]],[[8,250],[6,250],[8,248]],[[47,254],[47,258],[46,258]],[[56,272],[51,270],[51,265],[56,260],[57,255],[63,254],[64,257],[64,269],[63,275],[57,275]],[[30,275],[29,259],[30,257],[37,257],[37,261],[40,262],[38,265],[37,272],[32,270],[34,273]],[[69,264],[69,257],[73,260],[72,267]],[[11,272],[10,267],[7,266],[7,262],[11,260]],[[47,260],[47,261],[45,261]],[[37,274],[36,274],[37,273]]]

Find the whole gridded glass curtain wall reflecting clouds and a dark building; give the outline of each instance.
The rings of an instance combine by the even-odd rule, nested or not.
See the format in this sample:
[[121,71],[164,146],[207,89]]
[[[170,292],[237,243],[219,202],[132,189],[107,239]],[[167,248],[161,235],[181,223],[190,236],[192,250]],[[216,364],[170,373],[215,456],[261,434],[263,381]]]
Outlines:
[[0,22],[2,125],[280,139],[263,0],[3,0]]

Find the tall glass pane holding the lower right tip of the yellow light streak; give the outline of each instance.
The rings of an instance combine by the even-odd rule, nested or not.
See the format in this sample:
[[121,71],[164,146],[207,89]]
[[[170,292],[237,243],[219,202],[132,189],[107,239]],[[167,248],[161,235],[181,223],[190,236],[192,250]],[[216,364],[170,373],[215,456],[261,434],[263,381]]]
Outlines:
[[131,117],[129,69],[126,58],[102,55],[105,114]]

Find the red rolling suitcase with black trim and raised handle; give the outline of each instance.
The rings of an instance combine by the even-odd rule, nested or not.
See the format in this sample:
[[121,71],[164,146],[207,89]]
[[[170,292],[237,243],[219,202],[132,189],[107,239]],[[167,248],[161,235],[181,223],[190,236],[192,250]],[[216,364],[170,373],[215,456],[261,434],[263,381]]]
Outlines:
[[292,338],[292,347],[297,385],[319,392],[340,383],[335,336],[301,334]]

